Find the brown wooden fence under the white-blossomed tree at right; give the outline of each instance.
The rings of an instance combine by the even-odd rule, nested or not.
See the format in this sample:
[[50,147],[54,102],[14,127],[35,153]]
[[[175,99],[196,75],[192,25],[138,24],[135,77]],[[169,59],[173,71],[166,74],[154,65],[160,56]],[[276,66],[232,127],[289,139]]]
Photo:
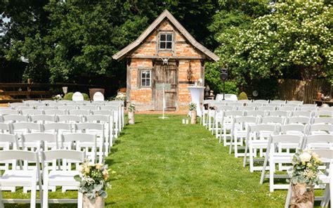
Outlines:
[[321,90],[325,95],[332,96],[332,85],[327,79],[313,79],[309,81],[297,79],[280,79],[278,98],[281,100],[303,100],[313,103],[317,93]]

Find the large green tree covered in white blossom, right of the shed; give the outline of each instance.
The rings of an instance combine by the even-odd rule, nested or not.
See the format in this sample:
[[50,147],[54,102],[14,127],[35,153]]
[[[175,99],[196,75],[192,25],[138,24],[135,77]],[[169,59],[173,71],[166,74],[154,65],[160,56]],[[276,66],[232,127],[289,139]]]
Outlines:
[[287,1],[268,7],[249,27],[230,27],[218,35],[216,53],[237,84],[261,79],[332,80],[330,6],[320,1]]

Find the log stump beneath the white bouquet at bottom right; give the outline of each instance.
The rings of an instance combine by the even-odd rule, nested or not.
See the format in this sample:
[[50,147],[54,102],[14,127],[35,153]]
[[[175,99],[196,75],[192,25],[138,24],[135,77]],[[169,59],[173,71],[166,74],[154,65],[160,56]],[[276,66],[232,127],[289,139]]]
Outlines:
[[289,207],[292,208],[312,208],[315,202],[313,187],[306,188],[306,184],[292,185],[292,199]]

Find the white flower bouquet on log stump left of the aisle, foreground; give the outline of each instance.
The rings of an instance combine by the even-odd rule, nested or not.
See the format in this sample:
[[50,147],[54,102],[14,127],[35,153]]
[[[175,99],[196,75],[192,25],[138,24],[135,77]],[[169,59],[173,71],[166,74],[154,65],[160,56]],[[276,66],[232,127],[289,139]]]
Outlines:
[[109,171],[103,164],[89,162],[86,160],[81,164],[81,173],[74,176],[79,181],[79,192],[83,193],[83,207],[104,207],[104,199],[107,197],[106,188]]

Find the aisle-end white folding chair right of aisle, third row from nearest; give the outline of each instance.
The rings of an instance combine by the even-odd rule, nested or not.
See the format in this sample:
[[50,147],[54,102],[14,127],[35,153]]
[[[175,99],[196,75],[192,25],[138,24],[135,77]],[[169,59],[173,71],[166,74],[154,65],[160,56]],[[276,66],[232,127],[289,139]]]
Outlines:
[[[259,157],[263,157],[263,149],[267,148],[269,136],[277,134],[278,126],[275,124],[257,124],[248,126],[243,166],[245,167],[247,162],[249,162],[251,172],[260,171],[262,167],[254,167],[255,161],[262,161],[262,159],[255,159],[257,155],[256,150],[260,151]],[[247,152],[249,152],[249,159],[247,159]]]

